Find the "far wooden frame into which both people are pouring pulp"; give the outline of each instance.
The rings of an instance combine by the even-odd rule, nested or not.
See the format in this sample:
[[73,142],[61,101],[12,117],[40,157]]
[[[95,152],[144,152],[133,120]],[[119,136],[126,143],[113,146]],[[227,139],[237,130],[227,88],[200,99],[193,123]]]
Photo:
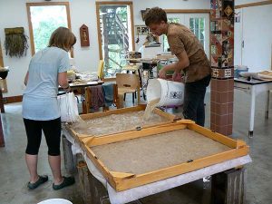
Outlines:
[[[102,117],[112,115],[112,114],[121,114],[121,113],[126,113],[126,112],[139,112],[139,111],[145,110],[145,107],[146,107],[145,104],[141,104],[141,105],[134,106],[131,108],[123,108],[123,109],[117,109],[117,110],[112,110],[112,111],[107,111],[107,112],[94,112],[94,113],[89,113],[89,114],[83,114],[83,115],[81,115],[81,118],[83,120],[91,120],[91,119],[96,119],[96,118],[102,118]],[[161,117],[167,118],[169,120],[166,122],[158,123],[156,125],[168,124],[168,123],[171,123],[176,120],[175,115],[170,114],[168,112],[162,112],[162,111],[160,111],[160,109],[155,109],[154,112],[156,114],[160,115]],[[153,126],[155,126],[155,125],[145,126],[143,129],[150,128]],[[89,141],[89,139],[95,137],[95,135],[80,134],[80,133],[74,131],[73,128],[71,128],[71,126],[69,124],[64,124],[64,127],[71,134],[71,136],[73,136],[73,138],[76,141],[78,141],[80,144],[83,144],[83,145],[85,144],[85,141]],[[129,131],[133,131],[133,130],[129,130]],[[122,132],[126,132],[126,131],[122,131]],[[119,132],[119,133],[122,133],[122,132]],[[100,137],[105,137],[105,140],[107,140],[107,138],[109,136],[111,136],[112,134],[114,134],[114,133],[105,134]],[[87,140],[85,140],[85,139],[87,139]]]

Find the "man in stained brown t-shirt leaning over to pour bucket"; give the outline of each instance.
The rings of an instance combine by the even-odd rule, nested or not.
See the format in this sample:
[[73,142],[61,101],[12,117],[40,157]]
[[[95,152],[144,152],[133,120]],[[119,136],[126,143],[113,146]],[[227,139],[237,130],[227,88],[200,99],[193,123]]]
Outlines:
[[185,73],[183,115],[204,126],[204,97],[211,68],[202,44],[189,28],[182,24],[169,24],[166,12],[159,7],[151,8],[144,20],[152,34],[167,35],[170,51],[179,59],[177,63],[164,66],[160,70],[160,78],[166,78],[167,71],[174,71],[173,80],[180,71]]

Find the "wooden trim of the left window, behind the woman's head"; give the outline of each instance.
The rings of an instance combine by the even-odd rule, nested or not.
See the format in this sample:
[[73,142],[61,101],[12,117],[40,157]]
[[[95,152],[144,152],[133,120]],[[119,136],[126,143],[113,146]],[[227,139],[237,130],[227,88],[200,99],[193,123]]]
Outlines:
[[[31,44],[31,53],[32,53],[32,55],[34,55],[34,53],[35,53],[35,47],[34,47],[34,34],[33,34],[33,25],[32,25],[32,21],[31,21],[30,7],[31,6],[46,6],[46,5],[65,5],[66,15],[67,15],[67,25],[68,25],[68,28],[70,30],[72,30],[69,2],[26,3],[27,19],[28,19],[28,25],[29,25],[29,36],[30,36],[30,44]],[[71,57],[73,57],[73,50],[71,50]]]

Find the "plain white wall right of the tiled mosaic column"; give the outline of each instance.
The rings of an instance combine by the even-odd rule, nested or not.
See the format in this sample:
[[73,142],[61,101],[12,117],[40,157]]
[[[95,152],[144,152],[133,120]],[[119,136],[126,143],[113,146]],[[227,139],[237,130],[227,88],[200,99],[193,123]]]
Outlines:
[[[241,21],[235,24],[235,64],[249,67],[249,72],[271,69],[272,5],[236,10]],[[241,43],[244,41],[244,48]]]

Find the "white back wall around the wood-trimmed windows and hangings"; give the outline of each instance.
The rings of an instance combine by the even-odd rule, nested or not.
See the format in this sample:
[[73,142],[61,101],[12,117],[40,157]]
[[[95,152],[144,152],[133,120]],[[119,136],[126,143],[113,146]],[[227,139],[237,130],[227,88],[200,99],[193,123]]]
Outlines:
[[[65,0],[57,0],[61,2]],[[70,2],[70,13],[73,33],[79,40],[79,27],[86,24],[89,27],[90,47],[82,48],[78,41],[74,45],[74,60],[76,67],[81,71],[95,72],[99,61],[99,44],[97,41],[95,0],[66,0]],[[26,14],[26,2],[44,2],[43,0],[0,0],[0,40],[4,54],[5,66],[10,67],[7,77],[8,92],[4,97],[22,95],[24,90],[24,74],[32,57],[31,48],[26,56],[10,58],[5,55],[4,28],[24,26],[24,32],[29,36]],[[52,1],[56,2],[56,1]],[[167,9],[209,9],[209,0],[132,0],[134,24],[144,24],[141,20],[141,10],[147,7],[160,6]],[[3,20],[4,19],[4,20]],[[136,36],[135,36],[136,38]],[[29,43],[30,45],[30,43]]]

